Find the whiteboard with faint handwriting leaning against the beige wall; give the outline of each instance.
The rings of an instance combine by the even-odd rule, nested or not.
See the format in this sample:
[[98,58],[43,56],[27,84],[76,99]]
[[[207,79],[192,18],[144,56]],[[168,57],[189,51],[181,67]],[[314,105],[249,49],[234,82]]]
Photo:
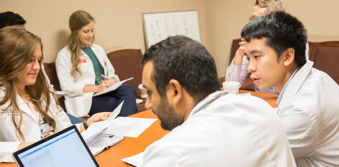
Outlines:
[[146,49],[169,36],[184,35],[200,41],[198,11],[142,13]]

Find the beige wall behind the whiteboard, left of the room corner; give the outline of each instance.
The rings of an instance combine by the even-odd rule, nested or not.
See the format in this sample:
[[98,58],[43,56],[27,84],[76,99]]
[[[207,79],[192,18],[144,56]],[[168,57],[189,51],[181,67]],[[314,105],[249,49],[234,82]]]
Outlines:
[[206,41],[205,0],[0,0],[0,12],[19,13],[27,21],[26,29],[44,40],[44,62],[54,62],[67,45],[69,16],[80,9],[95,18],[96,44],[106,53],[127,48],[144,53],[144,12],[197,9],[201,42]]

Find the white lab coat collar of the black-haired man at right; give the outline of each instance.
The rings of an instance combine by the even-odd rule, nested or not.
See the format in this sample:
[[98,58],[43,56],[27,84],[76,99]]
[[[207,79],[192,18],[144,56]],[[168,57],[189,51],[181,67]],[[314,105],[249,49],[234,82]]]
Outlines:
[[284,106],[296,95],[299,91],[302,83],[305,81],[306,77],[310,73],[313,66],[313,61],[307,60],[306,64],[303,65],[299,71],[294,75],[291,82],[287,85],[287,88],[282,96],[281,102],[278,106],[279,110],[284,108]]

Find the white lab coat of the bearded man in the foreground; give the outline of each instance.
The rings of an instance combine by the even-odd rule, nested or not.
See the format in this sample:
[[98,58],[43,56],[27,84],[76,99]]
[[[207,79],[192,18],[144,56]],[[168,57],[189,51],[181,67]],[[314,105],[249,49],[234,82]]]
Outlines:
[[267,102],[232,93],[218,98],[222,93],[208,95],[185,122],[149,145],[142,166],[296,166],[281,120]]

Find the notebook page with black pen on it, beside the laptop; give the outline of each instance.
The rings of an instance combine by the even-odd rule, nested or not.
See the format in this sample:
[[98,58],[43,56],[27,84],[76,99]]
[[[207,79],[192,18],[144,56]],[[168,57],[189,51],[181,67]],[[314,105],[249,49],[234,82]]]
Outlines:
[[92,154],[94,156],[98,155],[103,149],[107,146],[112,146],[119,141],[123,140],[124,137],[122,136],[113,136],[112,138],[106,137],[102,134],[99,134],[95,136],[92,140],[90,140],[88,143],[89,150],[91,150]]

